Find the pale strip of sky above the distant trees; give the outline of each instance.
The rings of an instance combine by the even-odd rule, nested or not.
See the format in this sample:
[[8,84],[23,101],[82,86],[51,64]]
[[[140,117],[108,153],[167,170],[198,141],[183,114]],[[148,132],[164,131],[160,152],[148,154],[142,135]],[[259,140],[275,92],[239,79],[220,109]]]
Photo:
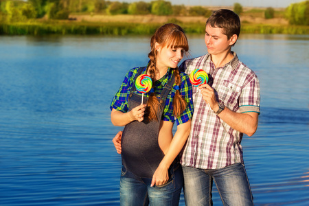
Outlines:
[[[116,0],[112,0],[116,1]],[[119,0],[117,0],[119,1]],[[137,2],[140,0],[122,0],[120,2]],[[150,2],[152,0],[141,0]],[[210,5],[210,6],[233,6],[234,3],[240,3],[243,7],[272,7],[287,8],[291,3],[298,3],[305,0],[165,0],[170,1],[172,5]]]

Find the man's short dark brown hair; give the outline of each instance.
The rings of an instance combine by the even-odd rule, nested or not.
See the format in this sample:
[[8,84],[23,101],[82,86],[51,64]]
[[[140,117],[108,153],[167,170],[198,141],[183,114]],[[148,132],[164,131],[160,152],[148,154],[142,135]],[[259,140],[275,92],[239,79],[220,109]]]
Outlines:
[[206,25],[209,24],[211,27],[222,28],[222,34],[227,35],[227,38],[231,38],[234,34],[237,38],[240,34],[240,18],[239,16],[226,9],[215,11],[206,21]]

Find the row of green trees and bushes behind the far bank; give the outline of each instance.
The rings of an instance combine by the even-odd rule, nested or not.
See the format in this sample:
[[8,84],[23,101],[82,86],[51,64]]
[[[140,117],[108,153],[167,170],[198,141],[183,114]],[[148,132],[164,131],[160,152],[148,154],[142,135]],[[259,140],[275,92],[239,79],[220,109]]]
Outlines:
[[[241,15],[242,5],[235,3],[233,10]],[[202,6],[186,7],[172,5],[170,1],[136,1],[133,3],[105,0],[0,0],[0,21],[20,22],[28,19],[68,19],[69,14],[133,14],[133,15],[174,15],[205,16],[211,10]],[[264,18],[271,19],[275,15],[273,8],[264,10]],[[292,3],[286,8],[285,17],[290,24],[309,25],[309,1]]]

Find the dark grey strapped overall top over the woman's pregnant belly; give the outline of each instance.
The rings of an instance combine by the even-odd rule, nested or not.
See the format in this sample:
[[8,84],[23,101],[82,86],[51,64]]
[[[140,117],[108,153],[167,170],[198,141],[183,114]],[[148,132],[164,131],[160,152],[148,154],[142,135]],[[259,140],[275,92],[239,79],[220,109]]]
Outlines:
[[[135,79],[141,74],[144,68],[145,67],[139,68]],[[171,80],[165,84],[161,95],[157,97],[161,103],[161,109],[159,109],[157,116],[159,121],[154,120],[149,122],[146,113],[142,122],[133,121],[124,127],[122,133],[122,164],[126,167],[126,170],[139,177],[152,178],[152,175],[155,173],[155,170],[157,170],[159,163],[164,157],[164,153],[158,142],[159,127],[165,107],[165,100],[173,84],[174,75]],[[129,111],[141,104],[141,95],[133,93],[135,90],[135,84],[133,84],[128,98]],[[146,104],[147,101],[148,98],[144,96],[144,104]]]

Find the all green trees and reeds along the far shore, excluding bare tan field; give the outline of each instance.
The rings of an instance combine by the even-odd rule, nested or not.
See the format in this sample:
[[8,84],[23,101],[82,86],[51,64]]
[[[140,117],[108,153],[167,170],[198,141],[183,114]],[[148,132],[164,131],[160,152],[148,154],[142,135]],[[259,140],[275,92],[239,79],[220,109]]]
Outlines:
[[[309,1],[292,3],[285,11],[273,8],[244,11],[240,3],[233,6],[234,12],[265,19],[285,18],[290,25],[251,25],[243,23],[244,32],[308,34]],[[69,21],[70,14],[79,15],[157,15],[171,16],[170,21],[179,23],[188,33],[203,33],[198,23],[182,23],[175,16],[211,15],[204,6],[172,5],[170,1],[136,1],[126,3],[106,0],[0,0],[0,34],[152,34],[159,25],[151,23],[93,23]],[[69,22],[69,23],[68,23]],[[201,24],[201,23],[200,23]],[[300,26],[299,26],[300,25]],[[196,28],[194,28],[196,27]]]

